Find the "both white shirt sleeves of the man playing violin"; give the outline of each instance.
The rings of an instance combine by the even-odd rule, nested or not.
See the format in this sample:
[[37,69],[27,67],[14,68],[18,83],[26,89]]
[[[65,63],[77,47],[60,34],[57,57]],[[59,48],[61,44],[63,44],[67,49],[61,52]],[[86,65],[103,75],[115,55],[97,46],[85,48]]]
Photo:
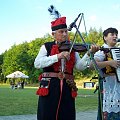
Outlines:
[[[85,54],[82,58],[80,58],[79,53],[75,52],[75,67],[78,70],[84,70],[87,68],[90,58],[87,54]],[[58,62],[58,57],[56,55],[47,56],[47,50],[45,45],[42,45],[40,51],[35,59],[34,66],[35,68],[44,68],[51,66],[55,62]]]

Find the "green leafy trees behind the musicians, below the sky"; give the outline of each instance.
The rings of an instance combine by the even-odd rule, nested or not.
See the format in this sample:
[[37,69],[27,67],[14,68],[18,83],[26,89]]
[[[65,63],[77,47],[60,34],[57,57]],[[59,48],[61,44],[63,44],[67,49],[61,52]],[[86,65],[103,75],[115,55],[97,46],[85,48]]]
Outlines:
[[[74,33],[69,33],[70,39],[73,40]],[[83,32],[82,36],[86,43],[95,43],[97,45],[103,44],[102,38],[102,29],[100,28],[98,31],[94,29],[90,29],[88,35]],[[38,82],[38,76],[42,73],[42,69],[38,70],[34,68],[34,60],[39,52],[41,45],[45,42],[53,41],[52,36],[46,34],[42,38],[36,38],[31,42],[23,42],[19,45],[13,45],[9,50],[5,51],[0,55],[0,82],[4,82],[6,79],[6,75],[15,72],[17,70],[27,74],[29,76],[30,83]],[[76,36],[76,42],[81,42],[82,40],[79,35]],[[82,56],[83,54],[81,54]],[[87,71],[87,72],[86,72]],[[82,72],[75,70],[76,76],[88,76],[90,77],[91,71],[85,70]]]

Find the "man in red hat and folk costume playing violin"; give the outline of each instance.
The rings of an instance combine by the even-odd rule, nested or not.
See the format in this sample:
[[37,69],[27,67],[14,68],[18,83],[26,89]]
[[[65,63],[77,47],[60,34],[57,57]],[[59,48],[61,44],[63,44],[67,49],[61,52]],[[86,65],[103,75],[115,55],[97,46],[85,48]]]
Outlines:
[[42,68],[37,120],[75,120],[75,97],[77,87],[74,82],[73,69],[84,70],[90,60],[89,52],[95,53],[99,47],[91,45],[91,49],[83,58],[79,53],[59,51],[59,44],[68,40],[66,17],[51,22],[54,40],[41,46],[34,66]]

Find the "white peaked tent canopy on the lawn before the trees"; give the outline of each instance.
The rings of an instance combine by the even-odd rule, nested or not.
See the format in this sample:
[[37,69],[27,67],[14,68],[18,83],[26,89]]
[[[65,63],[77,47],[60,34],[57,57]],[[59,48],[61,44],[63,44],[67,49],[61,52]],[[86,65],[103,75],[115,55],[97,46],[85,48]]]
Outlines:
[[13,72],[6,76],[7,78],[29,78],[29,76],[25,75],[20,71]]

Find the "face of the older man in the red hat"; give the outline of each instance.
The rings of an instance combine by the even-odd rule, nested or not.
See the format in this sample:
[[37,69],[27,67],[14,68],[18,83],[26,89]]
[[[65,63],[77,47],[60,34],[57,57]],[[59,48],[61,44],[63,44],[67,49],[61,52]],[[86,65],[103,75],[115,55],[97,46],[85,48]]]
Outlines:
[[52,32],[52,35],[54,36],[54,39],[58,42],[68,40],[67,28],[56,30],[55,32]]

